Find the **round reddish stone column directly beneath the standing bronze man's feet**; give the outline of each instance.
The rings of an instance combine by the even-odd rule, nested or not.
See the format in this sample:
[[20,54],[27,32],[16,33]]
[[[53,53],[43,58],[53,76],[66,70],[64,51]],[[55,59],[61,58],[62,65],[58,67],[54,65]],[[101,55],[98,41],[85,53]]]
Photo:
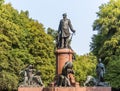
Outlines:
[[73,51],[68,48],[57,49],[56,54],[56,75],[61,74],[62,68],[67,61],[72,62]]

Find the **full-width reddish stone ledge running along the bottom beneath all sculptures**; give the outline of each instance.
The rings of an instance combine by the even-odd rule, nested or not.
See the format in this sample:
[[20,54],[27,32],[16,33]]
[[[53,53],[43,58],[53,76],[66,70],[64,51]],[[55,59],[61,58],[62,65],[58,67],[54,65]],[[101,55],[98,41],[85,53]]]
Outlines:
[[18,91],[111,91],[111,87],[19,87]]

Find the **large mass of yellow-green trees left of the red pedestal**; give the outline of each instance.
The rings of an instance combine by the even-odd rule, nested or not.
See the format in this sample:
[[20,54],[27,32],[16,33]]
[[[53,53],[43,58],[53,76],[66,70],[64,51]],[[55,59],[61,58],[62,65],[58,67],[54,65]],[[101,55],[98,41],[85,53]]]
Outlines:
[[0,88],[16,88],[19,72],[33,64],[47,85],[55,73],[53,38],[41,23],[18,12],[11,4],[0,6]]

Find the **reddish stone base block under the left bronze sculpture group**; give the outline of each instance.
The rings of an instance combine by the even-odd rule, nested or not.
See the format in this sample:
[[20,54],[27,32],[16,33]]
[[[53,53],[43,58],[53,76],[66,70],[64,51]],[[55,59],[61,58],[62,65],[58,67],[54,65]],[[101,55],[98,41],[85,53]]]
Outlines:
[[18,87],[18,91],[43,91],[43,87]]

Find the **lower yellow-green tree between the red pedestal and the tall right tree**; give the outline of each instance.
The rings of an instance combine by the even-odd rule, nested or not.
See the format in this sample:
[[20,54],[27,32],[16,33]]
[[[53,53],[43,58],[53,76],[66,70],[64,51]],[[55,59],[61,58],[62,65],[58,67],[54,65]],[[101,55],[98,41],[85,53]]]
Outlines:
[[96,76],[96,57],[92,54],[76,55],[74,63],[76,81],[83,85],[88,75]]

